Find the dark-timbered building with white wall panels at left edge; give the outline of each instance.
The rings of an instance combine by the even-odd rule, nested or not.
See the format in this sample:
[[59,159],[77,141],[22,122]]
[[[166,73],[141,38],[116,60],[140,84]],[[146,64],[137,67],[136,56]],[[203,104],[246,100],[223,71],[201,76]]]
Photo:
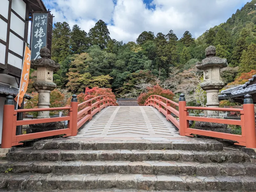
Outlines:
[[34,11],[47,11],[42,0],[0,0],[0,143],[5,97],[18,93]]

